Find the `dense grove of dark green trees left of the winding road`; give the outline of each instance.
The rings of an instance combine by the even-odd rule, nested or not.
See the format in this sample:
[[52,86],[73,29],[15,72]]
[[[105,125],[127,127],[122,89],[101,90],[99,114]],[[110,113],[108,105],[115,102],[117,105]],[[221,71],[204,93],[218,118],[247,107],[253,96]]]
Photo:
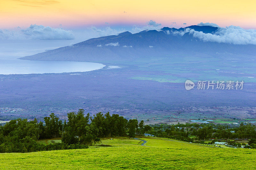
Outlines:
[[[68,121],[62,122],[53,113],[44,118],[44,122],[28,122],[27,119],[11,120],[0,126],[0,152],[36,152],[58,149],[88,148],[96,142],[99,137],[126,136],[135,137],[141,133],[144,122],[138,124],[138,120],[127,120],[119,115],[84,115],[84,110],[77,113],[68,113]],[[143,131],[144,132],[144,131]],[[51,145],[40,144],[39,139],[62,137],[62,143]]]

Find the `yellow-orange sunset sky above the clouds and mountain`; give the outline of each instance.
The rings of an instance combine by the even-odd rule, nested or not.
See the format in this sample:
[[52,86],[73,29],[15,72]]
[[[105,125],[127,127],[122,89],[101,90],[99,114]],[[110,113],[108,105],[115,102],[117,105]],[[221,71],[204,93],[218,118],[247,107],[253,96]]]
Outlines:
[[0,0],[0,28],[144,25],[153,19],[162,26],[212,22],[255,29],[255,7],[254,0]]

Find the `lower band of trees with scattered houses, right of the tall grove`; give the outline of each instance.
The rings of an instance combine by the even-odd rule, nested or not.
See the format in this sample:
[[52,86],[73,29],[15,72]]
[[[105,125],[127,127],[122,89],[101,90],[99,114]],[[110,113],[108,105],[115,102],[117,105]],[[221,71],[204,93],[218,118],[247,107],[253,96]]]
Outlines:
[[[211,138],[216,138],[216,139],[256,138],[256,127],[251,123],[246,125],[241,123],[240,126],[233,127],[233,128],[228,128],[228,125],[220,125],[220,124],[214,125],[212,123],[209,123],[209,124],[206,124],[206,123],[179,124],[178,123],[176,125],[155,124],[155,125],[150,125],[150,127],[151,129],[148,132],[152,135],[155,135],[157,137],[173,138],[173,139],[187,141],[187,142],[196,142],[197,140],[209,140]],[[234,132],[232,133],[231,131],[234,131]],[[195,137],[191,137],[191,136],[195,136]]]

